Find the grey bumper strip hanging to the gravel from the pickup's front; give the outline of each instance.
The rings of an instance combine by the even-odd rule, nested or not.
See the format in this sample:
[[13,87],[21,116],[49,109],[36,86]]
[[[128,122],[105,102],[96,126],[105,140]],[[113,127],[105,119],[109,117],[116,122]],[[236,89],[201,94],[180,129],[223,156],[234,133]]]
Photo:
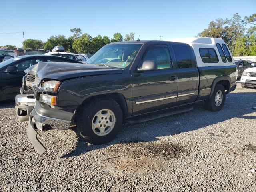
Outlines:
[[32,116],[30,115],[29,117],[29,122],[28,122],[28,128],[27,128],[27,135],[28,139],[34,146],[34,148],[37,150],[37,152],[42,155],[44,152],[46,152],[46,148],[43,146],[43,144],[37,139],[37,131],[34,127],[34,124],[32,122]]

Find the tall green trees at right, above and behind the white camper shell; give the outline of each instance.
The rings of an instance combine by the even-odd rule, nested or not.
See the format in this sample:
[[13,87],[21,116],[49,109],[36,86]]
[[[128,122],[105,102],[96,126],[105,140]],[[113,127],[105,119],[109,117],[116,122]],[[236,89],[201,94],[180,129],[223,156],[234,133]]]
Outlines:
[[[198,34],[200,37],[222,38],[233,56],[255,56],[256,55],[256,14],[245,17],[234,14],[231,19],[217,19],[211,21],[208,28]],[[246,30],[245,25],[251,24]]]

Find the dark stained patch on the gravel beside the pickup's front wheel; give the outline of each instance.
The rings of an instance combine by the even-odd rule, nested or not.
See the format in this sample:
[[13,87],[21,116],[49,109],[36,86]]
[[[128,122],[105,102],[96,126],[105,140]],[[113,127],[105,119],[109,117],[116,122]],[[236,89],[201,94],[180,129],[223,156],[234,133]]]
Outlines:
[[[116,150],[118,148],[118,150]],[[127,141],[122,144],[110,146],[108,152],[113,156],[129,156],[140,158],[141,156],[153,158],[161,156],[175,158],[186,153],[184,146],[167,141],[142,142],[139,140]],[[114,154],[113,154],[114,153]]]

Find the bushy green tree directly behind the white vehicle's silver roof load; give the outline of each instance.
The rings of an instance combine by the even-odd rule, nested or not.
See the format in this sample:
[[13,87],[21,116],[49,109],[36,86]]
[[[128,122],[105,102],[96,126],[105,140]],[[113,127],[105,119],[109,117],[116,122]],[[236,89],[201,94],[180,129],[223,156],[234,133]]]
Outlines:
[[63,46],[65,50],[69,49],[68,40],[64,35],[50,36],[44,43],[44,50],[52,50],[55,46]]

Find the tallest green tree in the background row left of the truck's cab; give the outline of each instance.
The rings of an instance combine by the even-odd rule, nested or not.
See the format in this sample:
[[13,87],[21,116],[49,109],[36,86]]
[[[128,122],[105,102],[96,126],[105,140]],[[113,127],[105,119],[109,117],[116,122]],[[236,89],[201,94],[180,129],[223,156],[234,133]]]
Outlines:
[[92,53],[92,36],[87,33],[82,34],[81,38],[74,40],[72,48],[78,53]]

